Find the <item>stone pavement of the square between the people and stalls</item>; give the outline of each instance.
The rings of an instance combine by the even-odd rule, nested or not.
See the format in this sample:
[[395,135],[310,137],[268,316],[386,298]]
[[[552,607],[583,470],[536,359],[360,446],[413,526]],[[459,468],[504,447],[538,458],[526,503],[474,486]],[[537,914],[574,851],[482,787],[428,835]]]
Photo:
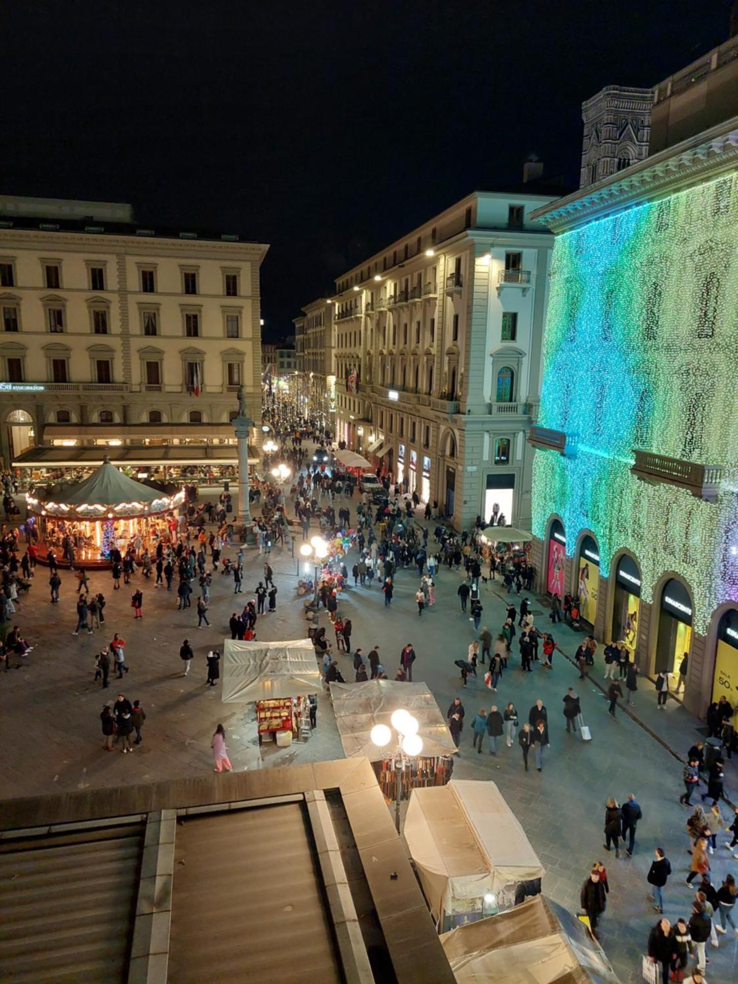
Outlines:
[[[355,515],[356,499],[347,504]],[[239,604],[248,599],[249,590],[260,580],[263,563],[264,558],[256,550],[249,552],[245,593],[238,596]],[[297,561],[288,548],[277,547],[271,563],[278,588],[277,613],[260,618],[259,638],[302,637],[302,602],[295,594]],[[349,570],[350,567],[349,558]],[[289,749],[272,747],[262,757],[253,712],[222,705],[219,688],[205,686],[205,653],[222,645],[224,635],[228,635],[228,617],[235,608],[229,579],[215,575],[211,626],[197,630],[195,608],[177,611],[174,593],[154,588],[154,584],[144,583],[144,618],[134,622],[132,588],[113,591],[109,573],[94,575],[91,589],[103,590],[108,605],[104,629],[95,631],[92,637],[72,635],[76,624],[76,582],[69,574],[62,573],[62,579],[61,602],[52,606],[46,589],[47,572],[36,569],[31,593],[19,613],[20,624],[36,648],[22,669],[3,674],[0,679],[0,734],[5,751],[0,763],[3,795],[112,786],[210,769],[210,739],[218,721],[228,730],[230,758],[236,769],[341,757],[326,698],[319,698],[318,729],[309,742]],[[136,583],[142,581],[142,576],[137,575]],[[352,644],[361,646],[365,653],[378,644],[392,677],[401,647],[410,642],[417,652],[413,678],[429,684],[440,707],[445,710],[454,697],[461,696],[468,724],[455,775],[498,783],[546,866],[544,892],[577,910],[579,889],[591,862],[605,862],[610,893],[601,923],[602,944],[621,979],[638,981],[648,929],[655,921],[646,901],[646,871],[654,846],[665,847],[674,869],[664,892],[664,914],[673,921],[690,912],[692,892],[684,885],[688,866],[686,812],[678,802],[681,764],[674,752],[683,754],[689,748],[700,722],[674,701],[669,702],[666,713],[656,712],[655,697],[647,682],[639,691],[633,713],[619,709],[613,720],[606,713],[602,691],[596,686],[602,681],[600,667],[591,681],[580,681],[576,668],[557,652],[553,670],[544,670],[536,663],[533,673],[523,674],[516,646],[498,694],[484,687],[482,673],[476,679],[471,677],[464,689],[454,660],[465,656],[466,646],[475,634],[468,616],[461,613],[459,581],[459,574],[443,570],[436,579],[437,604],[426,609],[422,617],[418,617],[413,602],[417,587],[414,569],[399,572],[389,609],[384,607],[382,592],[376,585],[350,587],[340,610],[352,619]],[[549,624],[547,609],[540,599],[532,601],[536,624],[542,629]],[[481,625],[488,626],[494,634],[504,616],[500,584],[483,586],[482,604]],[[327,624],[325,613],[320,618],[322,624]],[[94,653],[116,631],[127,641],[126,661],[131,668],[121,683],[122,690],[130,699],[140,699],[148,714],[143,744],[134,755],[125,758],[102,751],[97,717],[103,701],[114,700],[118,681],[111,678],[107,691],[92,683]],[[561,626],[556,627],[555,636],[569,654],[582,638]],[[185,638],[196,653],[187,678],[182,676],[178,655]],[[348,657],[340,655],[338,660],[344,678],[352,680]],[[565,732],[562,699],[569,686],[576,688],[584,719],[591,727],[592,741],[588,744]],[[548,708],[551,737],[541,773],[535,769],[523,771],[517,744],[508,749],[503,743],[496,757],[490,756],[486,748],[482,755],[472,750],[470,718],[476,710],[488,709],[492,703],[502,709],[512,700],[524,717],[538,697]],[[642,720],[636,718],[636,713]],[[604,804],[609,796],[622,801],[629,792],[634,792],[641,803],[644,820],[639,826],[634,857],[628,858],[623,852],[616,860],[602,846]],[[738,862],[722,846],[724,840],[725,837],[718,837],[717,851],[710,859],[714,879],[728,871],[738,873]],[[738,938],[722,936],[719,950],[708,947],[708,951],[710,984],[738,978]]]

